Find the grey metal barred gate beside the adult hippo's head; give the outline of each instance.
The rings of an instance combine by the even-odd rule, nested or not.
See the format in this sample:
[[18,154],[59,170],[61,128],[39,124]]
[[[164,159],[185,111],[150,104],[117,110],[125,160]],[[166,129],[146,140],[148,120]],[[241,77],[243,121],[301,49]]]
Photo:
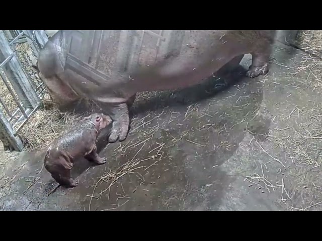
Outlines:
[[17,133],[38,108],[40,90],[45,89],[31,80],[12,47],[28,42],[37,58],[47,40],[43,30],[0,30],[0,140],[5,150],[22,151]]

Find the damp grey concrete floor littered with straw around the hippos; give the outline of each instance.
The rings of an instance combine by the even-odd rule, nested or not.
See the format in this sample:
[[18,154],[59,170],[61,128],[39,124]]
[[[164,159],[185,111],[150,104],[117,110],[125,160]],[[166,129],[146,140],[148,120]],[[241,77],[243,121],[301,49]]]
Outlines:
[[[75,188],[59,187],[48,196],[57,184],[42,169],[43,153],[22,155],[14,165],[24,166],[2,200],[3,209],[320,210],[321,194],[314,189],[320,172],[305,172],[319,166],[292,162],[287,148],[267,140],[274,128],[292,135],[287,127],[301,116],[283,119],[294,108],[290,102],[301,108],[318,101],[318,88],[314,96],[296,84],[305,76],[289,74],[298,54],[303,53],[279,44],[264,78],[247,78],[242,68],[224,80],[138,101],[128,138],[100,153],[109,160],[103,166],[80,160],[73,174],[79,179]],[[250,63],[246,56],[242,64],[247,68]],[[109,190],[109,181],[97,183],[131,161],[142,162]],[[293,175],[303,170],[306,179]]]

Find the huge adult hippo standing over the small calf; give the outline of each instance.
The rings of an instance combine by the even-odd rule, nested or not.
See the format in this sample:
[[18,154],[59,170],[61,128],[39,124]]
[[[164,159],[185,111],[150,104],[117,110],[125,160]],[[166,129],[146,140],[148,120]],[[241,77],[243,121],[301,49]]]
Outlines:
[[[39,53],[37,68],[52,99],[88,98],[113,119],[109,142],[129,130],[128,107],[142,91],[185,88],[239,64],[266,75],[275,30],[60,30]],[[224,68],[222,68],[224,67]],[[218,72],[217,72],[218,73]]]

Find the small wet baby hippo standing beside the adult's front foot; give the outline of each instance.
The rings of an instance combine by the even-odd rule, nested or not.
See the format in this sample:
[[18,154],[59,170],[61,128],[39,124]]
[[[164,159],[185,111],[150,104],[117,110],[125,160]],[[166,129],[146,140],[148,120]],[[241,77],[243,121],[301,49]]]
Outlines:
[[48,148],[44,166],[51,176],[62,186],[75,187],[78,180],[70,176],[74,160],[85,157],[98,165],[106,163],[106,158],[97,154],[97,136],[112,119],[104,114],[94,113],[73,127],[69,132],[57,138]]

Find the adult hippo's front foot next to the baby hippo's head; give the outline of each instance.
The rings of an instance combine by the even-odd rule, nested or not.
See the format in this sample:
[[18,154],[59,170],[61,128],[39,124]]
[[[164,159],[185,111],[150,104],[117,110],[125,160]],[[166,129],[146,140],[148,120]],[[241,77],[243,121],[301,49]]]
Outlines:
[[109,142],[113,143],[119,140],[124,141],[127,137],[130,125],[130,117],[126,103],[122,103],[119,106],[113,108],[112,115],[113,124],[109,137]]

